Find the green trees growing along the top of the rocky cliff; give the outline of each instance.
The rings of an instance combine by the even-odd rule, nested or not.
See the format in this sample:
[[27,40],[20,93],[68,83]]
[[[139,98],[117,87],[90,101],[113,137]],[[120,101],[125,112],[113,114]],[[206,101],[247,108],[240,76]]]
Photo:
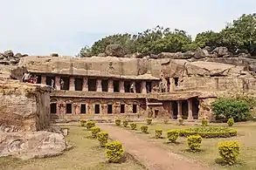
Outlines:
[[225,46],[234,54],[244,52],[256,56],[256,14],[244,14],[219,32],[198,33],[195,40],[192,40],[186,31],[170,31],[169,28],[161,26],[135,35],[110,35],[95,42],[91,47],[82,48],[80,56],[104,53],[108,44],[120,44],[125,54],[195,51],[198,47],[206,46],[212,51],[218,46]]

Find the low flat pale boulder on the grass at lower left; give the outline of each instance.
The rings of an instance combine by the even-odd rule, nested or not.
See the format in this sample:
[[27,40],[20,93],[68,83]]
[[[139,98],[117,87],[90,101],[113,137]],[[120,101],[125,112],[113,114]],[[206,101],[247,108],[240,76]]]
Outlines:
[[67,147],[64,136],[59,133],[0,133],[0,157],[15,156],[23,160],[52,157]]

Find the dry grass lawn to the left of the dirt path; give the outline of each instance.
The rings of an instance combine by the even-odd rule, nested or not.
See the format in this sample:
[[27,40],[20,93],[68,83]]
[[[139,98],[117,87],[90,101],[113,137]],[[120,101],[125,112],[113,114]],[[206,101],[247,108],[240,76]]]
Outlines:
[[[109,164],[105,157],[105,149],[99,146],[97,139],[88,139],[90,132],[80,126],[69,126],[70,133],[66,139],[73,145],[73,149],[54,158],[17,160],[10,157],[0,158],[2,170],[57,170],[57,169],[83,169],[83,170],[140,170],[144,169],[132,158],[125,163]],[[124,148],[125,149],[125,148]]]

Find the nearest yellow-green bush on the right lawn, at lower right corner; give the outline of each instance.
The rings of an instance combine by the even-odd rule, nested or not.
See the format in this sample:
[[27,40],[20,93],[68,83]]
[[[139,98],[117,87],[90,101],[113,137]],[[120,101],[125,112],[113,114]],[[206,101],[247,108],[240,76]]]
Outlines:
[[218,143],[218,153],[225,163],[233,165],[239,157],[240,145],[237,141],[224,141]]

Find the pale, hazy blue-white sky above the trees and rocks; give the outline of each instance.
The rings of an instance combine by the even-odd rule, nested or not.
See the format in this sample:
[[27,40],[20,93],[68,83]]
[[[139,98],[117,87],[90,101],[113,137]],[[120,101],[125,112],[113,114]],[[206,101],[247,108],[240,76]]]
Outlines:
[[64,56],[114,33],[162,25],[196,37],[256,12],[255,0],[0,0],[0,6],[0,52]]

